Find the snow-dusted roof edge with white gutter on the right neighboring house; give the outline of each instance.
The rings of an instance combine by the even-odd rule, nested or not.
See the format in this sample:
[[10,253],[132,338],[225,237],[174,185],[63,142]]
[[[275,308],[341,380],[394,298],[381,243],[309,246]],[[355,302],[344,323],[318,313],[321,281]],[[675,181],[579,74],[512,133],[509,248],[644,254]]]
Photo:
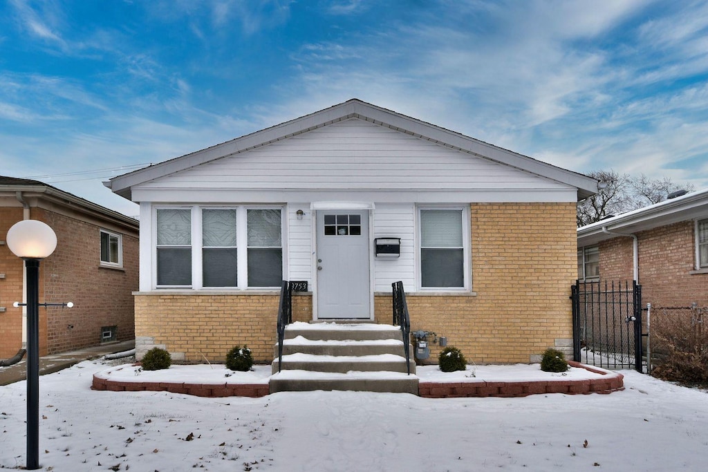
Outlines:
[[617,233],[634,234],[679,221],[702,218],[708,218],[708,189],[581,226],[578,228],[578,246],[597,244],[617,237]]

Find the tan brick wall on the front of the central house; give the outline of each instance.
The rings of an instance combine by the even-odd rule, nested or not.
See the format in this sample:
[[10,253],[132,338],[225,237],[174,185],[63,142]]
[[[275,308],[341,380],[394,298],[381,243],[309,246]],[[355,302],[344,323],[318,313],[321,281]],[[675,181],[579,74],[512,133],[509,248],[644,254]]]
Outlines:
[[[476,363],[536,361],[547,347],[571,345],[575,205],[480,203],[471,214],[476,296],[410,296],[411,328],[446,336]],[[188,362],[223,362],[246,344],[256,362],[270,362],[277,312],[277,294],[139,294],[137,343]],[[375,317],[391,323],[391,297],[375,297]],[[312,297],[294,297],[293,318],[312,319]]]

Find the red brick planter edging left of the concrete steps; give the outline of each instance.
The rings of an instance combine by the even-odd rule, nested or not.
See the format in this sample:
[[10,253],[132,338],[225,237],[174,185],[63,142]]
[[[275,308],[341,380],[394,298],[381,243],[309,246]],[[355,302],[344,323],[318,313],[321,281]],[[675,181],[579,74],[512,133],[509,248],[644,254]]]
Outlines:
[[185,395],[224,397],[248,396],[257,398],[270,393],[268,384],[191,384],[172,382],[133,382],[103,379],[93,375],[92,390],[107,391],[168,391]]

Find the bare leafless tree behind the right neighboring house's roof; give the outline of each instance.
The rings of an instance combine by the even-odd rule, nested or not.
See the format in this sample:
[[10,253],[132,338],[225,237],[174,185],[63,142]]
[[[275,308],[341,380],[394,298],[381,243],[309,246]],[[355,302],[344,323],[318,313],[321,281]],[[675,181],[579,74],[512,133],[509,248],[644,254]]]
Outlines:
[[663,202],[671,192],[676,190],[683,189],[688,192],[695,190],[691,184],[676,184],[668,177],[652,179],[644,174],[631,177],[612,169],[593,171],[588,175],[600,180],[604,187],[596,195],[578,202],[576,214],[578,227]]

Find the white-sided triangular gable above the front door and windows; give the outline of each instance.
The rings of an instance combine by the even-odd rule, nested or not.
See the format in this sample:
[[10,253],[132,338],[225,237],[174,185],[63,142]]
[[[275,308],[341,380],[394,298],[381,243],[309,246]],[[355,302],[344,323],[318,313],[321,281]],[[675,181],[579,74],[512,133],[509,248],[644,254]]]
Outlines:
[[356,118],[164,175],[136,201],[569,201],[576,188]]

